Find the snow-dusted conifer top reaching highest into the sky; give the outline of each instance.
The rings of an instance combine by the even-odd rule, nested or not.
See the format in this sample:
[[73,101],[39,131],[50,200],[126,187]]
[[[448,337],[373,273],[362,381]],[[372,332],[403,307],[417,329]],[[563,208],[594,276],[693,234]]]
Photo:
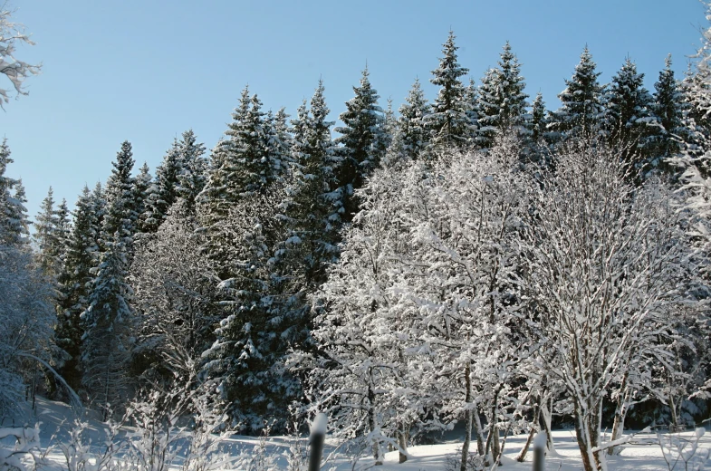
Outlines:
[[432,112],[427,116],[431,144],[435,147],[466,147],[472,134],[466,116],[465,86],[459,80],[469,72],[456,62],[455,34],[450,31],[444,43],[439,67],[432,71],[430,82],[440,87],[432,103]]

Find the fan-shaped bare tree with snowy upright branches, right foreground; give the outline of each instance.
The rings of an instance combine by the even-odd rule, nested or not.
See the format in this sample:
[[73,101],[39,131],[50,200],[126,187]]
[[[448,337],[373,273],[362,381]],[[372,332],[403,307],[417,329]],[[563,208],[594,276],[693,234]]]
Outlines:
[[663,339],[696,271],[672,192],[653,181],[634,187],[612,153],[571,141],[536,187],[525,226],[524,295],[550,349],[541,368],[562,381],[590,471],[606,468],[603,400],[627,380],[650,387],[639,383],[651,368],[640,358],[669,360]]

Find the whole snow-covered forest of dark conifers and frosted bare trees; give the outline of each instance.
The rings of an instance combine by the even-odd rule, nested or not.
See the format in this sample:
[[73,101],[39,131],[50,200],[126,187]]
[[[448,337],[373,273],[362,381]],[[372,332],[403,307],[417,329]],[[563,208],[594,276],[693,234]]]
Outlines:
[[437,96],[416,81],[397,111],[367,68],[339,126],[328,77],[291,116],[245,87],[211,150],[186,130],[151,174],[126,140],[104,183],[73,210],[50,187],[33,221],[5,139],[0,427],[35,395],[208,434],[298,434],[324,412],[376,465],[456,426],[461,471],[496,466],[518,434],[523,461],[538,431],[553,450],[572,428],[591,471],[626,428],[696,428],[711,418],[703,35],[653,91],[629,58],[601,83],[585,47],[557,110],[527,94],[509,43],[464,82],[451,31]]

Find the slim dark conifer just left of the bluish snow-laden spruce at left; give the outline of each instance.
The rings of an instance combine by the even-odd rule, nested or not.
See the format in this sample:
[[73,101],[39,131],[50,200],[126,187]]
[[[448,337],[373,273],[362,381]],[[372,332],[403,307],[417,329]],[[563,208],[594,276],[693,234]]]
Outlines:
[[[63,353],[55,362],[59,373],[74,390],[82,386],[80,357],[83,328],[80,315],[89,307],[89,293],[94,276],[92,269],[98,265],[100,226],[97,206],[89,187],[84,187],[77,199],[74,223],[68,236],[62,272],[57,277],[59,300],[54,341]],[[58,352],[60,353],[60,352]]]

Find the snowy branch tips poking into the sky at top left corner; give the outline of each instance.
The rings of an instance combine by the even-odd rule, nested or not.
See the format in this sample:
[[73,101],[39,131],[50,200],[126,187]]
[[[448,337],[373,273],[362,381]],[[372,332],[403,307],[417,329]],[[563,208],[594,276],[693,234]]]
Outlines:
[[[0,73],[13,84],[17,95],[26,95],[27,91],[23,88],[25,79],[39,73],[42,65],[20,61],[14,56],[18,44],[34,45],[34,42],[24,32],[23,24],[13,22],[13,12],[5,10],[6,6],[0,7]],[[5,86],[0,88],[0,108],[10,101],[9,93]]]

